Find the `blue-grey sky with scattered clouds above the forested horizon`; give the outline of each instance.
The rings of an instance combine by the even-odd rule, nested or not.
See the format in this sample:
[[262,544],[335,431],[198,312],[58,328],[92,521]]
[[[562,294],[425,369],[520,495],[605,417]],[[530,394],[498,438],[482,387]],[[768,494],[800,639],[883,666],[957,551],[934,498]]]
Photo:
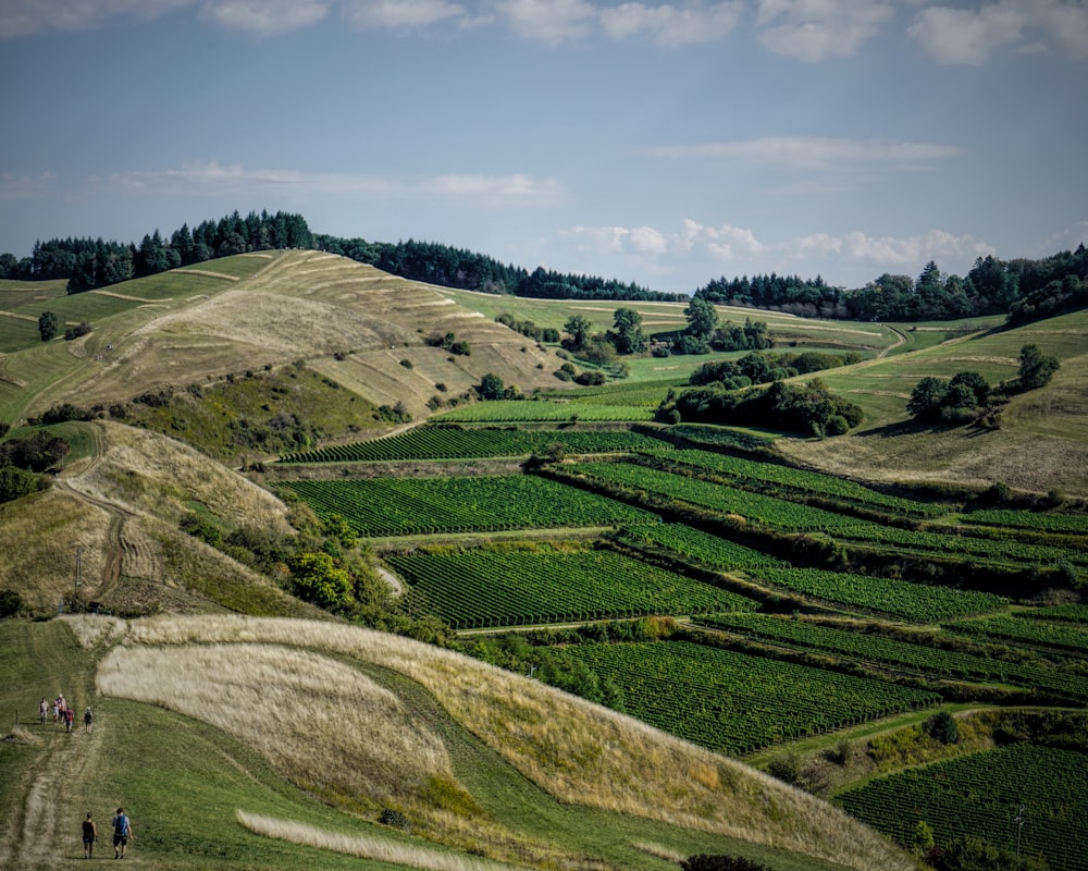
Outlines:
[[0,252],[234,210],[691,292],[1088,243],[1088,0],[0,0]]

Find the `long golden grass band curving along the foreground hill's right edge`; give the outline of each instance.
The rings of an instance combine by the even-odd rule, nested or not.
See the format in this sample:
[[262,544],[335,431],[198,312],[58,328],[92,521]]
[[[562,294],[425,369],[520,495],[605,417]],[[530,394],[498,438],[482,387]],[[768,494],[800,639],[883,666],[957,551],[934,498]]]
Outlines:
[[[560,800],[717,832],[865,871],[911,867],[846,814],[734,760],[537,682],[410,639],[305,621],[168,617],[134,623],[128,641],[305,645],[372,662],[419,682],[456,720]],[[109,684],[100,686],[110,691]]]

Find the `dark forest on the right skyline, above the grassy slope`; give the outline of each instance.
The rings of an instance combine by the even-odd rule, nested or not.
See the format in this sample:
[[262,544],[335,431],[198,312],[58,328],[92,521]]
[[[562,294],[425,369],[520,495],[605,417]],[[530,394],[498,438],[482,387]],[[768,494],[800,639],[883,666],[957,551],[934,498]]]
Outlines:
[[966,275],[947,274],[930,260],[916,279],[883,273],[864,287],[832,287],[821,278],[755,275],[715,279],[695,298],[725,305],[841,320],[951,320],[1010,314],[1026,322],[1084,305],[1088,250],[1060,252],[1039,260],[979,257]]

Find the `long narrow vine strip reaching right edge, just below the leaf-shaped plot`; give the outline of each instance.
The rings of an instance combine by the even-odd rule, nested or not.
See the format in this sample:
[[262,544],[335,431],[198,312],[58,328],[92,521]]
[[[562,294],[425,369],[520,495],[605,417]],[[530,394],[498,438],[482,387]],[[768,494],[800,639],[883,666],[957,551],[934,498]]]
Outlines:
[[852,660],[905,667],[941,678],[996,680],[1043,689],[1066,699],[1088,700],[1088,679],[1052,668],[975,657],[928,645],[912,645],[767,614],[720,614],[701,618],[700,623],[752,638],[824,650]]

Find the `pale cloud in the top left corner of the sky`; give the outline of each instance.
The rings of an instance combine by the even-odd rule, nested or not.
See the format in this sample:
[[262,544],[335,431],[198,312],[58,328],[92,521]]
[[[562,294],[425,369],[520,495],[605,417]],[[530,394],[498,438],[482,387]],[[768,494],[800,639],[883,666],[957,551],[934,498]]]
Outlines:
[[3,0],[0,39],[47,30],[79,32],[102,27],[111,19],[152,20],[184,9],[195,0]]

